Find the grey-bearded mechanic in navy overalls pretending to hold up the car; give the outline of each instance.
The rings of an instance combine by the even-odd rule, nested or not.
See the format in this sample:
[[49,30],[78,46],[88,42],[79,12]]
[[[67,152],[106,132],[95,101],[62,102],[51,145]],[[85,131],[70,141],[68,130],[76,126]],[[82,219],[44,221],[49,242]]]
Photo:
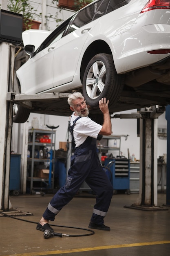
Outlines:
[[[75,153],[71,156],[71,168],[68,171],[66,184],[53,196],[36,229],[41,231],[49,229],[53,232],[53,229],[48,224],[49,220],[53,221],[55,219],[62,207],[70,202],[82,183],[86,181],[97,195],[93,215],[88,227],[91,229],[110,230],[110,227],[104,225],[104,217],[110,206],[113,187],[99,162],[96,148],[98,134],[111,134],[108,101],[106,102],[106,98],[99,100],[99,108],[104,115],[102,126],[88,117],[86,101],[80,92],[70,94],[68,103],[73,111],[70,125]],[[79,212],[81,214],[81,209],[79,209]]]

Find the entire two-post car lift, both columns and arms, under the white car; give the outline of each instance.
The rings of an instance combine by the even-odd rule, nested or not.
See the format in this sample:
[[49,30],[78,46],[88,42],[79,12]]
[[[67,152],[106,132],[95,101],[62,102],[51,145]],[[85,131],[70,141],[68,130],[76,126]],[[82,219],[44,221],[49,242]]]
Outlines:
[[[43,101],[51,99],[67,98],[68,93],[49,94],[15,94],[13,88],[15,47],[10,43],[0,44],[0,209],[8,211],[12,209],[9,201],[9,174],[10,174],[10,153],[11,133],[13,118],[13,103],[21,102],[29,104],[31,101]],[[10,81],[12,80],[12,86]],[[136,203],[130,206],[133,209],[159,210],[157,206],[157,118],[164,109],[155,106],[141,109],[139,113],[132,114],[140,118],[140,189],[139,198]],[[118,117],[115,115],[113,118]],[[127,118],[125,114],[119,118]],[[129,118],[129,116],[128,116]],[[169,151],[168,151],[169,152]],[[23,157],[24,158],[24,157]],[[167,170],[167,173],[169,170]],[[168,176],[169,177],[169,176]],[[167,183],[168,184],[168,183]],[[170,186],[170,184],[169,184]],[[169,187],[167,187],[169,191]],[[170,200],[167,202],[170,205]]]

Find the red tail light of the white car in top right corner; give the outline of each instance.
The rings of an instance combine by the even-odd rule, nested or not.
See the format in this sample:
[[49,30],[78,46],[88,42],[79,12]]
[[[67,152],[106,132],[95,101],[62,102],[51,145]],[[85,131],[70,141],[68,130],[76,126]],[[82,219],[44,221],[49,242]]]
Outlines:
[[149,0],[141,13],[154,9],[170,9],[170,1],[165,0]]

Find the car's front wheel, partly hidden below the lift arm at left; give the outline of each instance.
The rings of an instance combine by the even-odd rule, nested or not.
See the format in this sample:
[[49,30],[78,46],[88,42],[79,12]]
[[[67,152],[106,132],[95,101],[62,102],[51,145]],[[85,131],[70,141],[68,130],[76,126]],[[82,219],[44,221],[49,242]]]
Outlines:
[[13,104],[13,123],[25,123],[30,115],[30,110],[18,104]]

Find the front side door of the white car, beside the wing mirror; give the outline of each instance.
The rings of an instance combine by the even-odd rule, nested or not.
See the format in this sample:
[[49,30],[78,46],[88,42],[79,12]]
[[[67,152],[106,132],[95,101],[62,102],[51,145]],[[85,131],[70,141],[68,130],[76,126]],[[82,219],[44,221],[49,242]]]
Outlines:
[[71,18],[55,29],[40,45],[35,55],[18,70],[23,93],[40,93],[53,88],[54,49],[70,20]]

